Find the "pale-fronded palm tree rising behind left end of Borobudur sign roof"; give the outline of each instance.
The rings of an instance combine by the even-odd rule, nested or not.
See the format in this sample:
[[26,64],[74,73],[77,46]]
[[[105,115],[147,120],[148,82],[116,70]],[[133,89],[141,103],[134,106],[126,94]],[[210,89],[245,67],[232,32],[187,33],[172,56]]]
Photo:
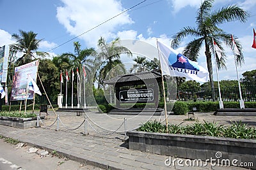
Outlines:
[[[120,55],[127,54],[127,56],[132,56],[131,51],[119,44],[120,39],[116,38],[111,43],[107,43],[102,37],[98,40],[98,46],[100,52],[98,53],[98,58],[100,59],[100,70],[98,74],[98,87],[101,87],[104,83],[104,78],[113,67],[121,64]],[[122,67],[120,67],[122,68]]]

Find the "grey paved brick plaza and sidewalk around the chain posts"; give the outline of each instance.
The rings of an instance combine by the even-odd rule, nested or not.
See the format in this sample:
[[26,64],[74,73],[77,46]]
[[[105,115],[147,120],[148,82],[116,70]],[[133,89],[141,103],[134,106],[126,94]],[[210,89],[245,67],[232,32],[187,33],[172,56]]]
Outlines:
[[[132,130],[147,120],[161,120],[162,116],[128,116],[107,115],[97,111],[87,111],[83,116],[76,116],[76,112],[56,112],[60,115],[59,131],[54,113],[49,111],[50,118],[43,120],[38,128],[16,129],[0,125],[0,134],[18,139],[31,146],[43,148],[51,152],[56,150],[60,155],[78,162],[97,166],[102,169],[243,169],[241,167],[221,167],[207,164],[205,167],[187,167],[178,164],[166,166],[166,155],[145,153],[129,150],[124,142],[124,117],[127,118],[127,129]],[[88,136],[84,133],[84,116],[88,117]],[[169,115],[170,124],[193,124],[186,121],[188,116]],[[239,121],[255,126],[255,117],[223,117],[212,113],[195,113],[198,121],[220,122],[230,124],[230,121]],[[55,123],[54,123],[55,122]],[[54,123],[54,124],[53,124]],[[172,157],[172,159],[174,159]],[[183,159],[185,160],[185,159]]]

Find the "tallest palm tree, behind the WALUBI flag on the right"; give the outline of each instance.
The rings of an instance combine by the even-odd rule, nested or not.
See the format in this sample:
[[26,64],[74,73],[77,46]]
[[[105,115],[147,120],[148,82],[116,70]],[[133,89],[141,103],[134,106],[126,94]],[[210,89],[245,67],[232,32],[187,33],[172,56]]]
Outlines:
[[[216,44],[223,50],[222,43],[232,47],[231,34],[224,32],[218,27],[220,24],[226,22],[232,22],[239,20],[240,22],[246,22],[249,17],[248,11],[245,11],[236,5],[224,6],[220,10],[211,11],[212,3],[214,0],[205,0],[196,13],[196,27],[184,27],[177,34],[173,36],[171,46],[173,48],[180,45],[183,38],[186,36],[194,36],[195,39],[189,42],[184,49],[184,55],[186,55],[191,60],[197,60],[199,52],[202,46],[205,46],[205,56],[207,60],[207,68],[209,71],[209,78],[211,82],[211,87],[214,88],[213,76],[212,76],[212,57],[211,54],[214,53],[214,47],[212,45],[212,38]],[[237,48],[239,49],[240,55],[236,56],[238,64],[244,62],[243,53],[241,51],[242,45],[234,37]],[[225,52],[222,53],[222,58],[218,60],[218,67],[225,67]]]

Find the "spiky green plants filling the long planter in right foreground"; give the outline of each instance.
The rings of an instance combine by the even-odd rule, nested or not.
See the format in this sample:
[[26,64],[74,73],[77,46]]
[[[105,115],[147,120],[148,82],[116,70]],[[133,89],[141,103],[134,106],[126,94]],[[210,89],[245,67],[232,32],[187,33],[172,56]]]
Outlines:
[[[165,125],[161,122],[148,121],[141,125],[137,131],[166,132]],[[224,138],[256,139],[255,127],[248,127],[242,122],[232,122],[230,126],[219,125],[214,122],[195,122],[191,125],[168,125],[168,133],[191,134],[198,136],[215,136]]]

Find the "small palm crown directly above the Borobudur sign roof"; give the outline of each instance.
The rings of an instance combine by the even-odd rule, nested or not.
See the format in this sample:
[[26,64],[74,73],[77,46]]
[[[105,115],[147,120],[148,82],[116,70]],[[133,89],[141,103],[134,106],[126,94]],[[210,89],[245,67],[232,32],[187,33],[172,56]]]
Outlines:
[[137,56],[135,59],[133,59],[136,64],[133,64],[133,66],[130,69],[130,72],[134,71],[135,73],[147,71],[147,66],[150,62],[148,62],[146,57],[140,57]]

